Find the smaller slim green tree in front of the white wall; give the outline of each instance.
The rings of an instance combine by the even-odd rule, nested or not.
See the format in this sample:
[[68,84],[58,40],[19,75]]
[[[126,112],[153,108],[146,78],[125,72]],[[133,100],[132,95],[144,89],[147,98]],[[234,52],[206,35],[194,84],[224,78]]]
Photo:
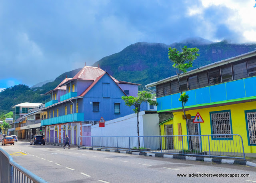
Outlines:
[[131,107],[134,106],[134,112],[137,113],[137,133],[138,133],[138,145],[140,148],[140,132],[139,132],[139,123],[140,123],[140,104],[144,101],[148,101],[148,103],[150,105],[158,105],[158,103],[154,100],[151,99],[152,95],[151,93],[147,92],[147,91],[142,91],[138,93],[137,97],[133,97],[133,96],[122,96],[123,101],[125,102],[125,105]]

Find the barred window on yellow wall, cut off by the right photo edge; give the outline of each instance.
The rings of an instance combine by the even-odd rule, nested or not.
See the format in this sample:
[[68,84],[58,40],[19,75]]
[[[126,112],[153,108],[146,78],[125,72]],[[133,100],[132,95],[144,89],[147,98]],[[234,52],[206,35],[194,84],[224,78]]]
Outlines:
[[246,114],[248,121],[250,144],[256,144],[256,112],[249,112]]

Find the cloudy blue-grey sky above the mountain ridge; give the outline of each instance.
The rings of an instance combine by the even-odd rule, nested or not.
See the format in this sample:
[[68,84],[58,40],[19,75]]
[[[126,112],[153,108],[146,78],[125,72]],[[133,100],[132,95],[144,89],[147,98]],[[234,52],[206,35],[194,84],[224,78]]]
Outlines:
[[[54,80],[136,42],[256,42],[255,0],[1,0],[0,91]],[[167,53],[166,53],[167,54]]]

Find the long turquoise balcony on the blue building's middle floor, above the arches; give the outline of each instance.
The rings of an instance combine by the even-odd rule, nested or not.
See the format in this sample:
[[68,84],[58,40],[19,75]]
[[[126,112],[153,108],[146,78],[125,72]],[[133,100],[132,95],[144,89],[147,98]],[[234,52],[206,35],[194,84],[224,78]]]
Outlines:
[[[41,120],[41,125],[54,125],[59,123],[68,123],[73,121],[73,114],[62,115],[50,119]],[[84,113],[74,113],[74,121],[84,121]]]

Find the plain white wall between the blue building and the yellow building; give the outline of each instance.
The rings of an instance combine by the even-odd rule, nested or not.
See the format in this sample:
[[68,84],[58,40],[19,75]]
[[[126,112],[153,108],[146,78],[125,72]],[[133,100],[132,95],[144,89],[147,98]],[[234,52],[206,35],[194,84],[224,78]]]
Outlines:
[[[145,111],[141,111],[139,123],[140,136],[159,135],[158,123],[159,119],[157,113],[145,114]],[[92,125],[91,130],[92,136],[101,136],[101,133],[103,136],[101,144],[100,138],[94,138],[94,145],[102,145],[105,147],[116,147],[118,145],[118,148],[138,147],[138,137],[131,137],[138,136],[137,114],[130,114],[124,117],[106,121],[105,127],[99,127],[99,124]],[[120,137],[116,138],[116,136]],[[144,146],[145,148],[158,149],[159,140],[157,137],[140,137],[140,147]]]

